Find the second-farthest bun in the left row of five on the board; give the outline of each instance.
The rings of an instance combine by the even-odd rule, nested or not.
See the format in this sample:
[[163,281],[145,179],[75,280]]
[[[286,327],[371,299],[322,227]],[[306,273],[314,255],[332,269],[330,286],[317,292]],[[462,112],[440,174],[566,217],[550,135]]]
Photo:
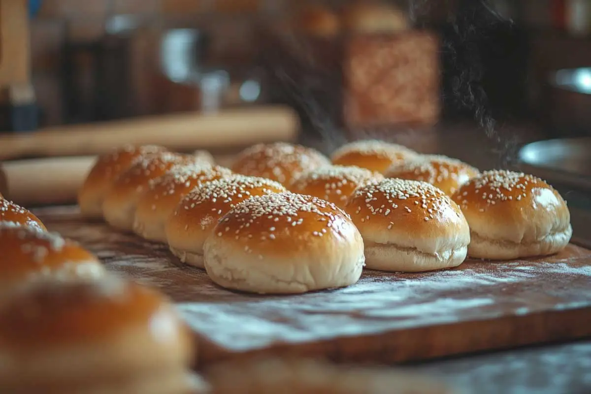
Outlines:
[[119,230],[131,231],[139,197],[154,180],[176,165],[198,164],[190,155],[162,152],[139,159],[128,170],[119,174],[103,201],[103,216],[107,223]]

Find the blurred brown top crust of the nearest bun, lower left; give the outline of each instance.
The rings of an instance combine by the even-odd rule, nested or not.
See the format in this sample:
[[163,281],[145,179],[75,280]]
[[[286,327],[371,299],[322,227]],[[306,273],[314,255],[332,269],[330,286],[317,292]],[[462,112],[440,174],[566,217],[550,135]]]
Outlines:
[[176,341],[180,320],[155,291],[122,279],[44,283],[0,306],[0,351],[92,346],[141,327]]

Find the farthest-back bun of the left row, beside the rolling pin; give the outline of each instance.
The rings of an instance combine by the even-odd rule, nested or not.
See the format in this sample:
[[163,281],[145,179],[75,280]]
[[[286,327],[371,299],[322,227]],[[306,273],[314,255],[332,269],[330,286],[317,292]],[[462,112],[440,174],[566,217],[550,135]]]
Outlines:
[[166,149],[158,145],[126,145],[100,155],[78,191],[78,204],[82,216],[94,219],[102,217],[103,199],[115,178],[139,158],[164,151]]

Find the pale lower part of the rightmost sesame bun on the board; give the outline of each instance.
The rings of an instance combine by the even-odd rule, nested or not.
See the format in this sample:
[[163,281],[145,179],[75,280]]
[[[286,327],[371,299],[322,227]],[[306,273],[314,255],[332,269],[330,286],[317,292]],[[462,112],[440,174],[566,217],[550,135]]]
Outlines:
[[537,242],[516,243],[508,240],[490,239],[470,232],[468,255],[476,259],[511,260],[524,257],[552,255],[569,245],[573,235],[570,226],[563,232],[552,233]]

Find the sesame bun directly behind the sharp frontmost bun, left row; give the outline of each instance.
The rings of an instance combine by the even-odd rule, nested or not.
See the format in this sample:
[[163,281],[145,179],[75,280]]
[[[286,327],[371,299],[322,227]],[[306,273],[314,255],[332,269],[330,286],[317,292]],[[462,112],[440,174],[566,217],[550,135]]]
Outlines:
[[283,191],[285,187],[278,182],[246,175],[233,175],[195,188],[166,222],[171,252],[182,262],[203,268],[203,243],[220,217],[246,198]]

